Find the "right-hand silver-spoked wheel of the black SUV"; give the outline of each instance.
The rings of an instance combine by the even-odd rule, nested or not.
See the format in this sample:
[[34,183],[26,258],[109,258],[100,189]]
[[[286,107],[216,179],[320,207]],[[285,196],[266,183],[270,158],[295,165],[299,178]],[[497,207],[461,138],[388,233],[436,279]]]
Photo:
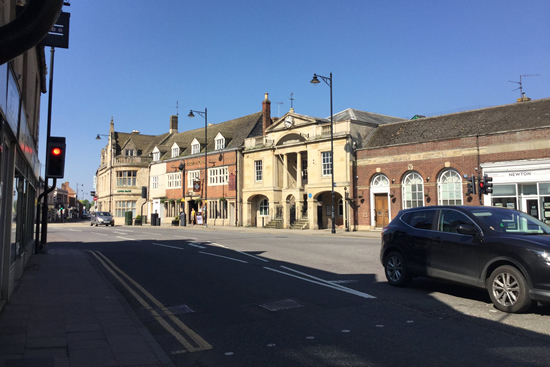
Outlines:
[[525,277],[513,266],[504,265],[493,271],[487,281],[489,297],[501,311],[522,312],[532,305]]

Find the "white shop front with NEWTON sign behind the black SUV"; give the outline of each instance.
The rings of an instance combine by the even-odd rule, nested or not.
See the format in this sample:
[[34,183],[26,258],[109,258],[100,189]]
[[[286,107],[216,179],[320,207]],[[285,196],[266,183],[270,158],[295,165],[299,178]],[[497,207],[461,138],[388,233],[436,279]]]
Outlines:
[[493,178],[484,204],[517,209],[550,224],[550,160],[482,164]]

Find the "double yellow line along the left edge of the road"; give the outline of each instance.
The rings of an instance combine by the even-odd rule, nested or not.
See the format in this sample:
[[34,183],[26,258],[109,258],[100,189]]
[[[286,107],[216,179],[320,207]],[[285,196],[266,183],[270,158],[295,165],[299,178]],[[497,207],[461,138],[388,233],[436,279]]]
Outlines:
[[[195,333],[193,330],[189,329],[183,322],[181,322],[180,319],[178,319],[176,316],[172,314],[162,303],[160,303],[153,295],[151,295],[149,292],[147,292],[141,285],[139,285],[135,280],[130,278],[126,273],[124,273],[122,270],[120,270],[115,264],[111,262],[111,260],[107,259],[105,255],[103,255],[99,251],[88,251],[92,255],[94,255],[97,260],[107,269],[119,282],[122,284],[128,292],[130,292],[135,299],[149,312],[151,312],[151,315],[155,318],[155,320],[164,328],[166,331],[168,331],[170,334],[172,334],[178,342],[180,342],[181,345],[184,346],[185,351],[187,352],[198,352],[201,350],[208,350],[212,349],[212,346],[208,344],[203,338],[201,338],[197,333]],[[151,307],[143,297],[141,297],[128,283],[122,279],[118,274],[122,275],[124,278],[128,280],[135,288],[137,288],[145,297],[149,298],[149,300],[153,303],[156,309],[159,309],[164,313],[164,316],[161,316],[155,308]],[[185,335],[182,335],[178,330],[176,330],[172,325],[170,325],[166,320],[165,317],[168,317]],[[189,340],[188,340],[189,339]],[[172,353],[181,353],[185,351],[176,351]]]

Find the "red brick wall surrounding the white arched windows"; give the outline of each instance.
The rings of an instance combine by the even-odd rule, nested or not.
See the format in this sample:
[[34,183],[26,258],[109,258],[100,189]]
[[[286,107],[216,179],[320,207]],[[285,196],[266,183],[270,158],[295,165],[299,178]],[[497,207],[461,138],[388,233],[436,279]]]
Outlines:
[[[391,216],[395,215],[402,209],[401,202],[401,181],[405,174],[410,172],[408,166],[413,166],[413,171],[418,172],[424,179],[424,192],[429,193],[429,199],[424,198],[425,205],[437,205],[437,178],[441,171],[447,169],[446,162],[449,162],[448,168],[454,168],[463,177],[464,175],[477,174],[475,168],[478,167],[478,155],[456,155],[445,157],[445,151],[464,149],[469,152],[477,150],[479,144],[480,155],[479,164],[486,162],[503,162],[516,161],[524,159],[541,159],[550,157],[550,144],[548,148],[534,150],[514,150],[513,146],[499,153],[487,153],[486,150],[491,147],[502,144],[524,143],[533,140],[543,140],[550,138],[550,129],[537,129],[520,132],[501,133],[493,135],[485,135],[479,137],[479,142],[476,137],[467,137],[461,139],[451,139],[445,141],[433,141],[411,145],[394,146],[387,148],[366,149],[357,151],[357,159],[368,158],[387,158],[390,163],[379,163],[361,165],[359,162],[357,167],[357,195],[362,196],[358,199],[357,221],[360,226],[371,225],[371,209],[370,209],[370,182],[374,175],[377,174],[376,169],[380,168],[380,173],[385,174],[390,179],[390,193],[394,194],[391,202]],[[391,157],[396,155],[420,154],[433,152],[434,158],[414,160],[411,157],[407,161],[391,162]],[[427,178],[430,180],[427,181]],[[392,183],[392,180],[395,180]],[[466,193],[466,181],[463,181],[463,192]],[[361,202],[362,201],[362,202]],[[463,197],[464,205],[479,205],[477,197]]]

